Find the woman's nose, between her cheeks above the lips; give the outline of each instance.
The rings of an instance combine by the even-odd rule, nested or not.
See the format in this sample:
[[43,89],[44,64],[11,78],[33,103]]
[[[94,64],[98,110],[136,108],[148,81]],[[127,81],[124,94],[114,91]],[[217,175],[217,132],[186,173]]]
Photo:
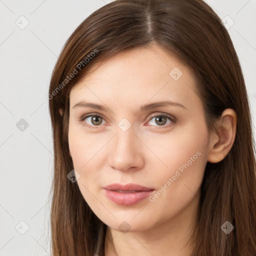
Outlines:
[[132,126],[126,131],[117,127],[109,148],[110,166],[120,171],[140,169],[144,164],[142,146]]

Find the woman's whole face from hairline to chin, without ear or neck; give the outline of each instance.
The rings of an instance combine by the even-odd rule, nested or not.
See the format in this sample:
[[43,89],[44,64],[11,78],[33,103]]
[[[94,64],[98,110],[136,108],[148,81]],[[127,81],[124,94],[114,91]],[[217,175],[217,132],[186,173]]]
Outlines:
[[177,59],[157,45],[113,55],[71,89],[69,110],[77,183],[104,223],[148,230],[193,214],[210,138]]

